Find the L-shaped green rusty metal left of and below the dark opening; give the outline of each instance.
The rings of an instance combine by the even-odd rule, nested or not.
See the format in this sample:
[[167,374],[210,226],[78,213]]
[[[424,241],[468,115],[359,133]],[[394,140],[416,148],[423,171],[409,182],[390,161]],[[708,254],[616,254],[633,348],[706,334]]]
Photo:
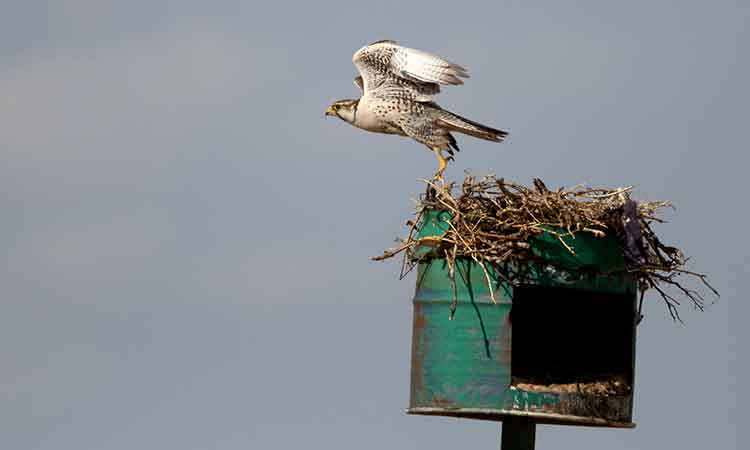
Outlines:
[[[453,287],[445,265],[436,260],[419,267],[409,414],[493,421],[528,417],[545,424],[635,426],[631,422],[632,390],[624,395],[602,395],[526,391],[514,386],[513,290],[493,280],[497,300],[493,304],[484,272],[475,263],[460,264],[456,276],[459,302],[453,320],[449,320]],[[597,286],[602,285],[606,283]]]

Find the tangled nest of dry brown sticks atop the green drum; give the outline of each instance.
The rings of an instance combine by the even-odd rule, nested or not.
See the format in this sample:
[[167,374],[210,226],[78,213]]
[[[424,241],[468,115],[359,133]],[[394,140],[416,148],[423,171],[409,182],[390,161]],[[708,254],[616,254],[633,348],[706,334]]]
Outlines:
[[[686,281],[697,281],[712,294],[719,295],[705,274],[686,269],[688,258],[679,248],[665,245],[654,233],[652,225],[664,222],[656,216],[657,211],[671,204],[666,201],[636,203],[630,198],[631,186],[603,189],[579,185],[550,190],[539,179],[534,180],[533,187],[526,187],[494,176],[482,179],[467,176],[460,189],[455,183],[441,180],[425,182],[427,193],[418,202],[416,217],[407,222],[406,239],[402,239],[398,247],[373,258],[382,261],[401,254],[402,277],[424,259],[418,256],[417,250],[429,246],[431,257],[447,261],[454,287],[456,261],[471,260],[484,271],[493,295],[490,271],[509,284],[517,285],[524,280],[517,275],[519,271],[508,270],[508,267],[550,263],[540,261],[532,251],[530,240],[535,236],[549,233],[574,254],[566,239],[590,233],[597,237],[613,235],[619,240],[626,263],[621,272],[635,279],[640,292],[639,317],[642,317],[644,295],[649,290],[661,296],[671,317],[678,321],[681,321],[682,301],[689,301],[701,311],[706,304],[704,295]],[[422,216],[428,210],[450,212],[443,235],[419,236]],[[454,296],[451,316],[456,300]]]

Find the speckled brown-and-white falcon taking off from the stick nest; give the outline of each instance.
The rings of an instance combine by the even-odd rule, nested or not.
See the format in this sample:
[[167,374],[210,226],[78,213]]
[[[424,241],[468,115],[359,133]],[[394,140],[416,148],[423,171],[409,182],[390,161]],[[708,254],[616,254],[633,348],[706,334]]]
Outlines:
[[[326,115],[363,130],[406,136],[426,145],[438,158],[436,178],[442,176],[446,161],[453,159],[453,150],[459,150],[451,132],[493,142],[502,142],[508,136],[433,101],[441,85],[461,85],[461,78],[469,78],[466,69],[457,64],[391,40],[362,47],[352,62],[360,74],[354,83],[362,96],[333,102]],[[447,159],[444,151],[450,155]]]

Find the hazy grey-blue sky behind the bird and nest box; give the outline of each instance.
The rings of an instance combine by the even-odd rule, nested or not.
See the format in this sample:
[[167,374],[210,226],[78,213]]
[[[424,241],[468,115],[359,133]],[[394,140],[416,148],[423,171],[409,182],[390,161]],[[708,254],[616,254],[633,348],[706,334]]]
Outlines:
[[434,156],[332,119],[379,39],[472,78],[447,176],[633,184],[721,300],[639,328],[635,430],[537,448],[740,448],[748,421],[750,6],[5,2],[0,447],[497,448],[408,417],[413,279],[374,263]]

